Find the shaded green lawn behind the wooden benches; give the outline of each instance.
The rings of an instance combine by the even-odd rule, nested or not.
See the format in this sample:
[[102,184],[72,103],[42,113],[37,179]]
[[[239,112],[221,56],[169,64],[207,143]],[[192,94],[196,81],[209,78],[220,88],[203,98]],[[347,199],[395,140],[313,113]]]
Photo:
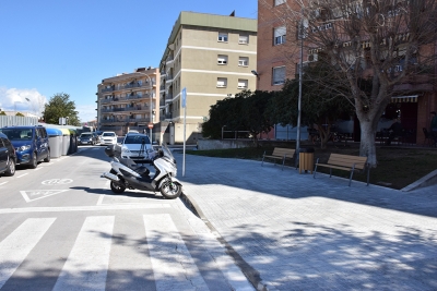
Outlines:
[[[286,146],[295,148],[294,143]],[[358,155],[359,149],[357,144],[347,146],[328,145],[327,149],[315,148],[315,161],[317,158],[320,162],[328,161],[331,153],[344,155]],[[235,149],[213,149],[213,150],[187,150],[189,155],[199,155],[220,158],[237,158],[237,159],[253,159],[260,160],[262,154],[267,150],[268,154],[273,151],[273,146],[261,146],[250,148]],[[437,149],[432,148],[406,148],[406,147],[385,147],[377,146],[378,167],[370,169],[370,183],[380,184],[392,189],[402,189],[429,172],[437,169]],[[294,166],[294,161],[287,161],[290,166]],[[318,172],[329,173],[329,169],[319,168]],[[349,178],[349,172],[341,170],[332,170],[332,174]],[[353,180],[366,181],[365,172],[354,173]]]

